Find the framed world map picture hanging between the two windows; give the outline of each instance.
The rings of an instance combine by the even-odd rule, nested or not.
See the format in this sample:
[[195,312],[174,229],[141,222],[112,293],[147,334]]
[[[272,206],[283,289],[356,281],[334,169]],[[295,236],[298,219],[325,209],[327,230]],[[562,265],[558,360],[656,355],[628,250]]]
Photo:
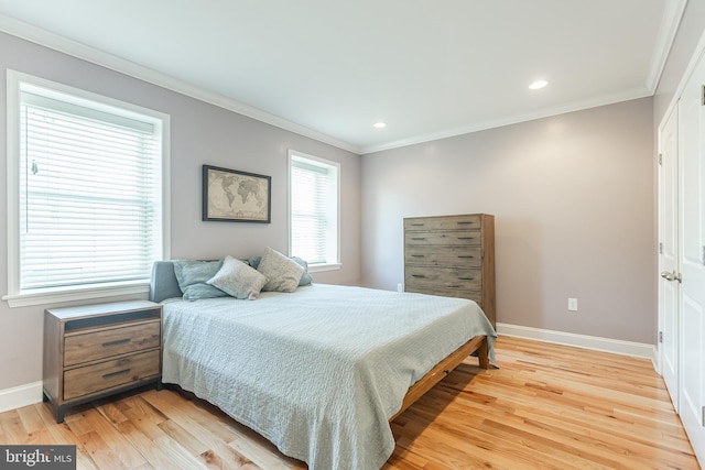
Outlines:
[[203,165],[203,220],[271,222],[272,177]]

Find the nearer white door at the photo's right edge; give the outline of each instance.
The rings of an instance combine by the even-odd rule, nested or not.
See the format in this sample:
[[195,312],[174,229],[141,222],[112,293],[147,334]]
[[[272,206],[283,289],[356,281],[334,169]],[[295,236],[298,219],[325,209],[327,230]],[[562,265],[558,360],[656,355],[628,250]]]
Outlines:
[[705,59],[679,103],[680,414],[705,462]]

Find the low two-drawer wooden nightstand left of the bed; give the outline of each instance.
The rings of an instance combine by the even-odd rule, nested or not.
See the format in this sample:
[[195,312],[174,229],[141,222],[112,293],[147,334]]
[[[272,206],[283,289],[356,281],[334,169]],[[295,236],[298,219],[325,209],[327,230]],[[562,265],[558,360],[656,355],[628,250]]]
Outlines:
[[162,306],[147,300],[44,310],[44,397],[56,423],[70,406],[161,385]]

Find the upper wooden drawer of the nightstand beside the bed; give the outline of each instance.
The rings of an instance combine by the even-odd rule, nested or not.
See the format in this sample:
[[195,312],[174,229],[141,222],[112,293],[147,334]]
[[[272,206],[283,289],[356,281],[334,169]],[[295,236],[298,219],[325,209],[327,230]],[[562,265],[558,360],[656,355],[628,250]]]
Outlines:
[[64,339],[64,367],[156,348],[161,338],[161,320],[67,335]]

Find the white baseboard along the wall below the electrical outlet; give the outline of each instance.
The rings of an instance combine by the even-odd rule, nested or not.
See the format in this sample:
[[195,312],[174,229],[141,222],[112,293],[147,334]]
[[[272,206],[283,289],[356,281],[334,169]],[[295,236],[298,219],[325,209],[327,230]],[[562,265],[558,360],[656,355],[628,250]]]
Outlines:
[[599,338],[595,336],[576,335],[572,332],[552,331],[541,328],[523,327],[519,325],[497,324],[497,334],[517,338],[534,339],[556,345],[612,352],[615,354],[633,356],[649,359],[658,371],[658,350],[653,345],[643,342],[621,341],[618,339]]

